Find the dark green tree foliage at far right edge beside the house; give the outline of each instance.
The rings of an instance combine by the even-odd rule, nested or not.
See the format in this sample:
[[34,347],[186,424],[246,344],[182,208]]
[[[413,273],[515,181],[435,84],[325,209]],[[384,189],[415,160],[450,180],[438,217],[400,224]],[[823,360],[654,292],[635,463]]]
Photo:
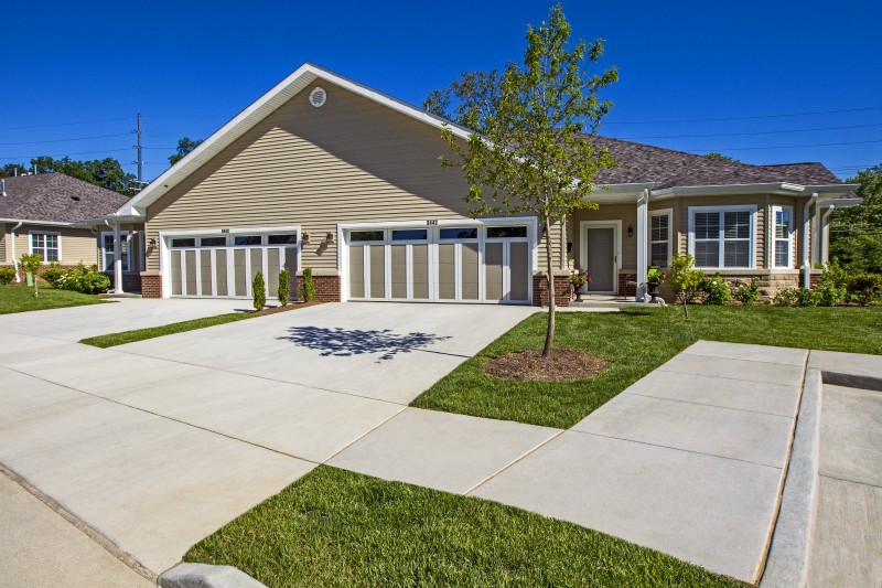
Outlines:
[[863,202],[830,215],[830,257],[850,271],[882,274],[882,164],[848,180]]

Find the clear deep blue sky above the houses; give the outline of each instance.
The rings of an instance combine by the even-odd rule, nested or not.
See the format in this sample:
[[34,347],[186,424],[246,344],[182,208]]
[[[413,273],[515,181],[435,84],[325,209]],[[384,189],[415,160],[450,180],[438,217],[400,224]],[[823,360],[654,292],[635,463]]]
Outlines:
[[[207,137],[305,61],[419,105],[461,72],[520,60],[527,24],[550,6],[19,7],[6,11],[0,33],[0,164],[115,157],[135,171],[129,131],[142,113],[152,180],[180,137]],[[882,162],[882,2],[569,0],[563,8],[574,36],[604,38],[604,65],[620,70],[602,135],[750,163],[821,161],[843,178]]]

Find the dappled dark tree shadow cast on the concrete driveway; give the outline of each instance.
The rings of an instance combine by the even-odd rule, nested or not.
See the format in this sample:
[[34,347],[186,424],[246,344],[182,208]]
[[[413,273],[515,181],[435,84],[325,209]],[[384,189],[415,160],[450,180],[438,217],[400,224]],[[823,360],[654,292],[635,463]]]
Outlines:
[[391,360],[399,353],[421,351],[439,341],[450,336],[434,335],[431,333],[394,333],[389,329],[383,331],[363,331],[361,329],[342,329],[335,327],[325,329],[321,327],[291,327],[288,335],[280,336],[281,341],[290,341],[301,348],[321,352],[322,357],[347,357],[365,353],[379,353],[377,363]]

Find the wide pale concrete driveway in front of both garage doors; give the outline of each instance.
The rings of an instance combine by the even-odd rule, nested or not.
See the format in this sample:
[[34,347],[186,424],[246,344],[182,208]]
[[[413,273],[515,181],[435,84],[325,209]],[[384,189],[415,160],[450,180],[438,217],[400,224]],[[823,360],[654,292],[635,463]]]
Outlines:
[[0,463],[159,574],[534,311],[322,304],[109,350],[71,342],[239,307],[0,317]]

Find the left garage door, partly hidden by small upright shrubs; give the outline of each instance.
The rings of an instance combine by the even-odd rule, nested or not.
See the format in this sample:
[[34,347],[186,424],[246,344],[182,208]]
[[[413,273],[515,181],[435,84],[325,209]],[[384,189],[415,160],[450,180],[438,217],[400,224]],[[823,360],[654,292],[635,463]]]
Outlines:
[[[251,298],[251,282],[262,271],[267,299],[271,299],[278,291],[279,272],[287,268],[293,284],[298,269],[297,231],[217,231],[169,236],[165,242],[173,297]],[[292,297],[295,290],[291,288]]]

